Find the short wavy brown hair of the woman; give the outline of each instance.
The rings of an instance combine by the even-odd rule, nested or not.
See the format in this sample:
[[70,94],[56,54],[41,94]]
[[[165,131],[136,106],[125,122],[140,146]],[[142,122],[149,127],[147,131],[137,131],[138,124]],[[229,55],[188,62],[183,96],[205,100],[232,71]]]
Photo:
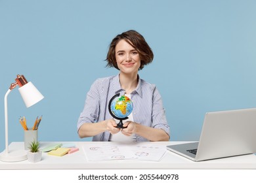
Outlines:
[[117,35],[110,43],[110,47],[108,49],[108,54],[106,57],[106,61],[108,61],[106,67],[115,67],[116,69],[118,69],[116,63],[116,45],[121,40],[125,40],[126,42],[131,44],[131,46],[133,46],[133,48],[135,48],[137,52],[139,52],[139,70],[143,69],[144,65],[148,65],[148,63],[151,63],[153,61],[154,54],[150,46],[148,46],[148,43],[145,41],[144,37],[135,30],[129,30]]

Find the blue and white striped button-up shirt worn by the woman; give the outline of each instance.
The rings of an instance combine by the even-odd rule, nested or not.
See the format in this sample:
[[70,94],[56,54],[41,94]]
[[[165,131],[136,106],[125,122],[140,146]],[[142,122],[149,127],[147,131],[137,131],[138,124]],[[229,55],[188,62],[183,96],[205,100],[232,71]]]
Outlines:
[[[85,123],[112,119],[113,117],[108,111],[108,103],[117,93],[125,95],[125,90],[120,86],[119,75],[98,78],[87,93],[85,107],[77,122],[77,131]],[[163,129],[169,135],[169,125],[167,124],[161,95],[154,84],[149,84],[139,78],[136,90],[131,93],[131,101],[133,102],[134,122]],[[135,137],[137,142],[148,141],[148,139],[137,134],[135,134]],[[104,131],[93,137],[93,141],[109,141],[109,139],[109,131]]]

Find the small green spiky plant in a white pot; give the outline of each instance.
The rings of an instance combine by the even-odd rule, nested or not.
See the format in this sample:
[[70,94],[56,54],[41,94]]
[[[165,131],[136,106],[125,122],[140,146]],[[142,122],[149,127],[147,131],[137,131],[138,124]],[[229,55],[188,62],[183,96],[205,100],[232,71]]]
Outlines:
[[40,143],[37,141],[33,141],[30,143],[30,146],[28,148],[30,149],[30,151],[28,151],[28,161],[31,161],[33,163],[41,161],[42,152],[41,150],[39,150]]

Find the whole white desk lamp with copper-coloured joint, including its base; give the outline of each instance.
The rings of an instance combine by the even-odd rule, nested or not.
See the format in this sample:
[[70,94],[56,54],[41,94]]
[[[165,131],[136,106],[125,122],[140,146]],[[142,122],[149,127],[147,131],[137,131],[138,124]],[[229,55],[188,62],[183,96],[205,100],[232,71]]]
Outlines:
[[26,150],[14,150],[9,152],[9,142],[8,142],[8,113],[7,113],[7,96],[17,85],[22,99],[26,107],[31,107],[35,103],[43,99],[43,95],[33,86],[32,82],[28,82],[23,75],[17,75],[15,83],[12,83],[9,90],[5,94],[5,150],[0,154],[1,161],[23,161],[27,159]]

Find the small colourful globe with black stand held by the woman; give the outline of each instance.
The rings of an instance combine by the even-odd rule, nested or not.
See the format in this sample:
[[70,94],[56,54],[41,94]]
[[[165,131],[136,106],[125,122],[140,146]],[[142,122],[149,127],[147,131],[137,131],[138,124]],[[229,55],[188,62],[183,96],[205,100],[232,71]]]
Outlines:
[[119,120],[116,127],[125,128],[123,127],[123,120],[127,120],[133,111],[133,103],[129,97],[125,95],[120,96],[120,93],[117,93],[110,99],[108,110],[113,118]]

